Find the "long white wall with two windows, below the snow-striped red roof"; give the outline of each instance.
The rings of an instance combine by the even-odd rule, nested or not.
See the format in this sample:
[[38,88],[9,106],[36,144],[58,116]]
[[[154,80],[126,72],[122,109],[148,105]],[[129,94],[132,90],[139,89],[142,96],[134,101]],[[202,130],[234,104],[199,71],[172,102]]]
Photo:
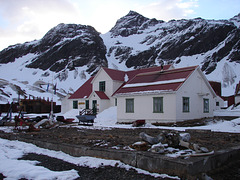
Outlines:
[[[163,113],[153,113],[153,97],[163,97]],[[134,113],[126,113],[126,99],[134,99]],[[176,119],[175,94],[142,95],[118,97],[117,121],[133,122],[144,119],[147,122],[175,122]]]

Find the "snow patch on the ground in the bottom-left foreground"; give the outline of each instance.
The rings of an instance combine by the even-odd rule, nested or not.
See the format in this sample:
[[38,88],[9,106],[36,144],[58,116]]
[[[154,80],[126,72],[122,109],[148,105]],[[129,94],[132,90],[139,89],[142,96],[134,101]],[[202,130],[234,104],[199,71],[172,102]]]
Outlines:
[[38,163],[37,161],[18,160],[18,158],[21,158],[24,154],[28,153],[43,154],[50,157],[62,159],[66,162],[73,163],[78,166],[87,166],[89,168],[98,168],[100,166],[117,166],[125,168],[126,170],[133,168],[138,173],[144,173],[153,177],[170,177],[165,174],[149,173],[147,171],[126,165],[116,160],[105,160],[87,156],[73,157],[61,151],[52,151],[39,148],[33,144],[20,141],[9,141],[0,138],[0,173],[7,177],[5,178],[6,180],[21,178],[39,180],[71,180],[79,177],[77,171],[74,169],[68,171],[51,171],[42,166],[36,166],[36,164]]

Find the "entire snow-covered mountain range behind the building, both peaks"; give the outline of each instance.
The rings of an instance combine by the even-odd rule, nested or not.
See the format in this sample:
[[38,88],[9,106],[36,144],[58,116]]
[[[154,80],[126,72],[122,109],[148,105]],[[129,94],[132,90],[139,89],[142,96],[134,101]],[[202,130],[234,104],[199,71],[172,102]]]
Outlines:
[[209,80],[222,82],[223,95],[233,94],[240,80],[240,14],[164,22],[130,11],[106,34],[59,24],[41,40],[0,52],[0,101],[17,94],[49,96],[45,89],[52,81],[63,97],[101,66],[128,70],[169,63],[200,65]]

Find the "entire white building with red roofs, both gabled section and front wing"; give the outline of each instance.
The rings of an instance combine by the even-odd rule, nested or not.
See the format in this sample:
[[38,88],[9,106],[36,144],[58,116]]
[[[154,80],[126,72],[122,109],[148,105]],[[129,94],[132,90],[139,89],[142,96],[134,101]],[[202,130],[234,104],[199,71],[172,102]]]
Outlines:
[[198,66],[166,65],[133,71],[101,68],[68,102],[79,111],[117,106],[120,123],[165,123],[212,117],[216,97]]

